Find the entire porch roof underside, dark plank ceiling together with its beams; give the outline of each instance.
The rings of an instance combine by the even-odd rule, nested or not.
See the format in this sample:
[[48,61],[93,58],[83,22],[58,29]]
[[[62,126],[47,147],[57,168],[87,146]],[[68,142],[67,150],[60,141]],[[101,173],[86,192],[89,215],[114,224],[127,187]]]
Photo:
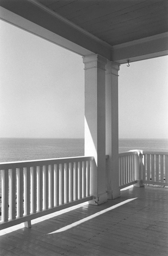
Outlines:
[[81,56],[168,55],[168,0],[0,0],[0,19]]

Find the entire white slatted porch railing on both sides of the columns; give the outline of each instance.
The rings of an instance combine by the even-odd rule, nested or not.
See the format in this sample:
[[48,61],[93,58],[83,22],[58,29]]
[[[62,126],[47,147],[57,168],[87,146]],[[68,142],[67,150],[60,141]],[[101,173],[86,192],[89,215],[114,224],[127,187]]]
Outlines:
[[[0,229],[22,222],[29,226],[37,217],[92,200],[90,161],[94,157],[0,163]],[[168,186],[168,152],[119,154],[119,188],[143,183]]]

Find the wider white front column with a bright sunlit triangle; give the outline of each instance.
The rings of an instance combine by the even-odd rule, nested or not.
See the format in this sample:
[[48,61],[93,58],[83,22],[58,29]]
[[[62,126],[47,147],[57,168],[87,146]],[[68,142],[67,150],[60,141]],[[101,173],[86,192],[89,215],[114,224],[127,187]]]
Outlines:
[[83,57],[85,64],[85,156],[91,161],[90,204],[107,201],[106,193],[106,103],[105,66],[107,59],[98,55]]

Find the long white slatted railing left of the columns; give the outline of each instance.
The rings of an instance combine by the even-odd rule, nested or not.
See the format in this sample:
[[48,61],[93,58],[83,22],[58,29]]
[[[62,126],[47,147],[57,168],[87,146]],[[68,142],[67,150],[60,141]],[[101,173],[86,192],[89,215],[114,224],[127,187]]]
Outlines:
[[[0,163],[4,229],[89,200],[90,161],[69,157]],[[17,197],[16,197],[17,195]]]

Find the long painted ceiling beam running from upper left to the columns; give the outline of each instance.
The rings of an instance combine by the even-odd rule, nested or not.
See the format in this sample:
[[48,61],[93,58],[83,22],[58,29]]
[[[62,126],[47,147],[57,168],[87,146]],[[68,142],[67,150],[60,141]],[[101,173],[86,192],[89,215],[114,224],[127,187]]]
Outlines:
[[0,19],[80,55],[110,60],[111,45],[33,0],[0,0]]

